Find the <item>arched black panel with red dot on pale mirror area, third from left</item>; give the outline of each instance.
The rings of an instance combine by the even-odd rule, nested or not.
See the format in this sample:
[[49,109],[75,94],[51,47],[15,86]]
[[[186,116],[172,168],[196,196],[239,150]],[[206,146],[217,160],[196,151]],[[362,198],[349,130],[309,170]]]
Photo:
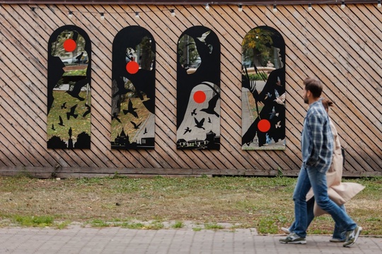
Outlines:
[[204,26],[178,40],[177,148],[220,148],[220,42]]

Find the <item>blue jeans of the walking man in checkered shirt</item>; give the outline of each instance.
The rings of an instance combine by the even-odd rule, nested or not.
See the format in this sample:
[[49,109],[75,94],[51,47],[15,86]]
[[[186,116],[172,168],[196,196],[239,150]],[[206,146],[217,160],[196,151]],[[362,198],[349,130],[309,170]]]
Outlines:
[[313,188],[313,195],[316,198],[317,205],[332,216],[339,229],[343,231],[355,229],[357,224],[328,197],[326,171],[318,172],[314,167],[301,167],[293,193],[294,233],[302,238],[306,238],[306,229],[308,228],[306,193],[308,193],[310,188]]

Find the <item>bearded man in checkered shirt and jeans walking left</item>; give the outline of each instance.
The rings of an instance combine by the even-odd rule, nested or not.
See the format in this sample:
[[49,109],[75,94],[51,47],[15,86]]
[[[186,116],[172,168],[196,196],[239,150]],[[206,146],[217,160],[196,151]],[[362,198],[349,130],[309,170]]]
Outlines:
[[279,241],[281,243],[306,243],[307,205],[306,193],[313,189],[317,205],[328,212],[335,223],[346,232],[344,247],[352,246],[361,233],[361,226],[328,197],[326,172],[332,163],[334,149],[330,121],[320,96],[323,85],[316,78],[303,80],[303,101],[309,104],[301,133],[303,164],[294,188],[294,231]]

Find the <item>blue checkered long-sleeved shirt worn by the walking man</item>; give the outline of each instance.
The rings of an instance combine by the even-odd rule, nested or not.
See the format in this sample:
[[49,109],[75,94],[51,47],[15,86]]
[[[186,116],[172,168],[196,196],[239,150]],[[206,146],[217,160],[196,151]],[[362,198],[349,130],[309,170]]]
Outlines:
[[326,173],[332,163],[333,147],[329,116],[321,100],[318,100],[310,104],[303,121],[301,133],[303,167],[314,167],[321,173]]

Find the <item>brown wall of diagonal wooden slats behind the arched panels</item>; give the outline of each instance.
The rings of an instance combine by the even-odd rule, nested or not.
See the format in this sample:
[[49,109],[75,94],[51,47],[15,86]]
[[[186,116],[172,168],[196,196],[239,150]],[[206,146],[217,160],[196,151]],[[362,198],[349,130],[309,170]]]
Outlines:
[[[36,6],[36,5],[33,5]],[[149,175],[296,176],[306,105],[302,80],[316,76],[335,102],[331,117],[347,151],[345,176],[382,175],[382,15],[373,4],[306,6],[2,5],[0,9],[0,175],[38,177]],[[170,17],[174,8],[176,16]],[[68,18],[69,11],[74,12]],[[134,18],[139,11],[140,19]],[[105,20],[100,20],[101,12]],[[74,24],[92,40],[91,150],[47,150],[47,42]],[[141,25],[156,40],[155,150],[110,149],[112,40]],[[176,44],[193,25],[221,42],[221,149],[176,150]],[[287,149],[241,150],[241,42],[259,26],[287,44]],[[142,176],[142,175],[141,175]]]

